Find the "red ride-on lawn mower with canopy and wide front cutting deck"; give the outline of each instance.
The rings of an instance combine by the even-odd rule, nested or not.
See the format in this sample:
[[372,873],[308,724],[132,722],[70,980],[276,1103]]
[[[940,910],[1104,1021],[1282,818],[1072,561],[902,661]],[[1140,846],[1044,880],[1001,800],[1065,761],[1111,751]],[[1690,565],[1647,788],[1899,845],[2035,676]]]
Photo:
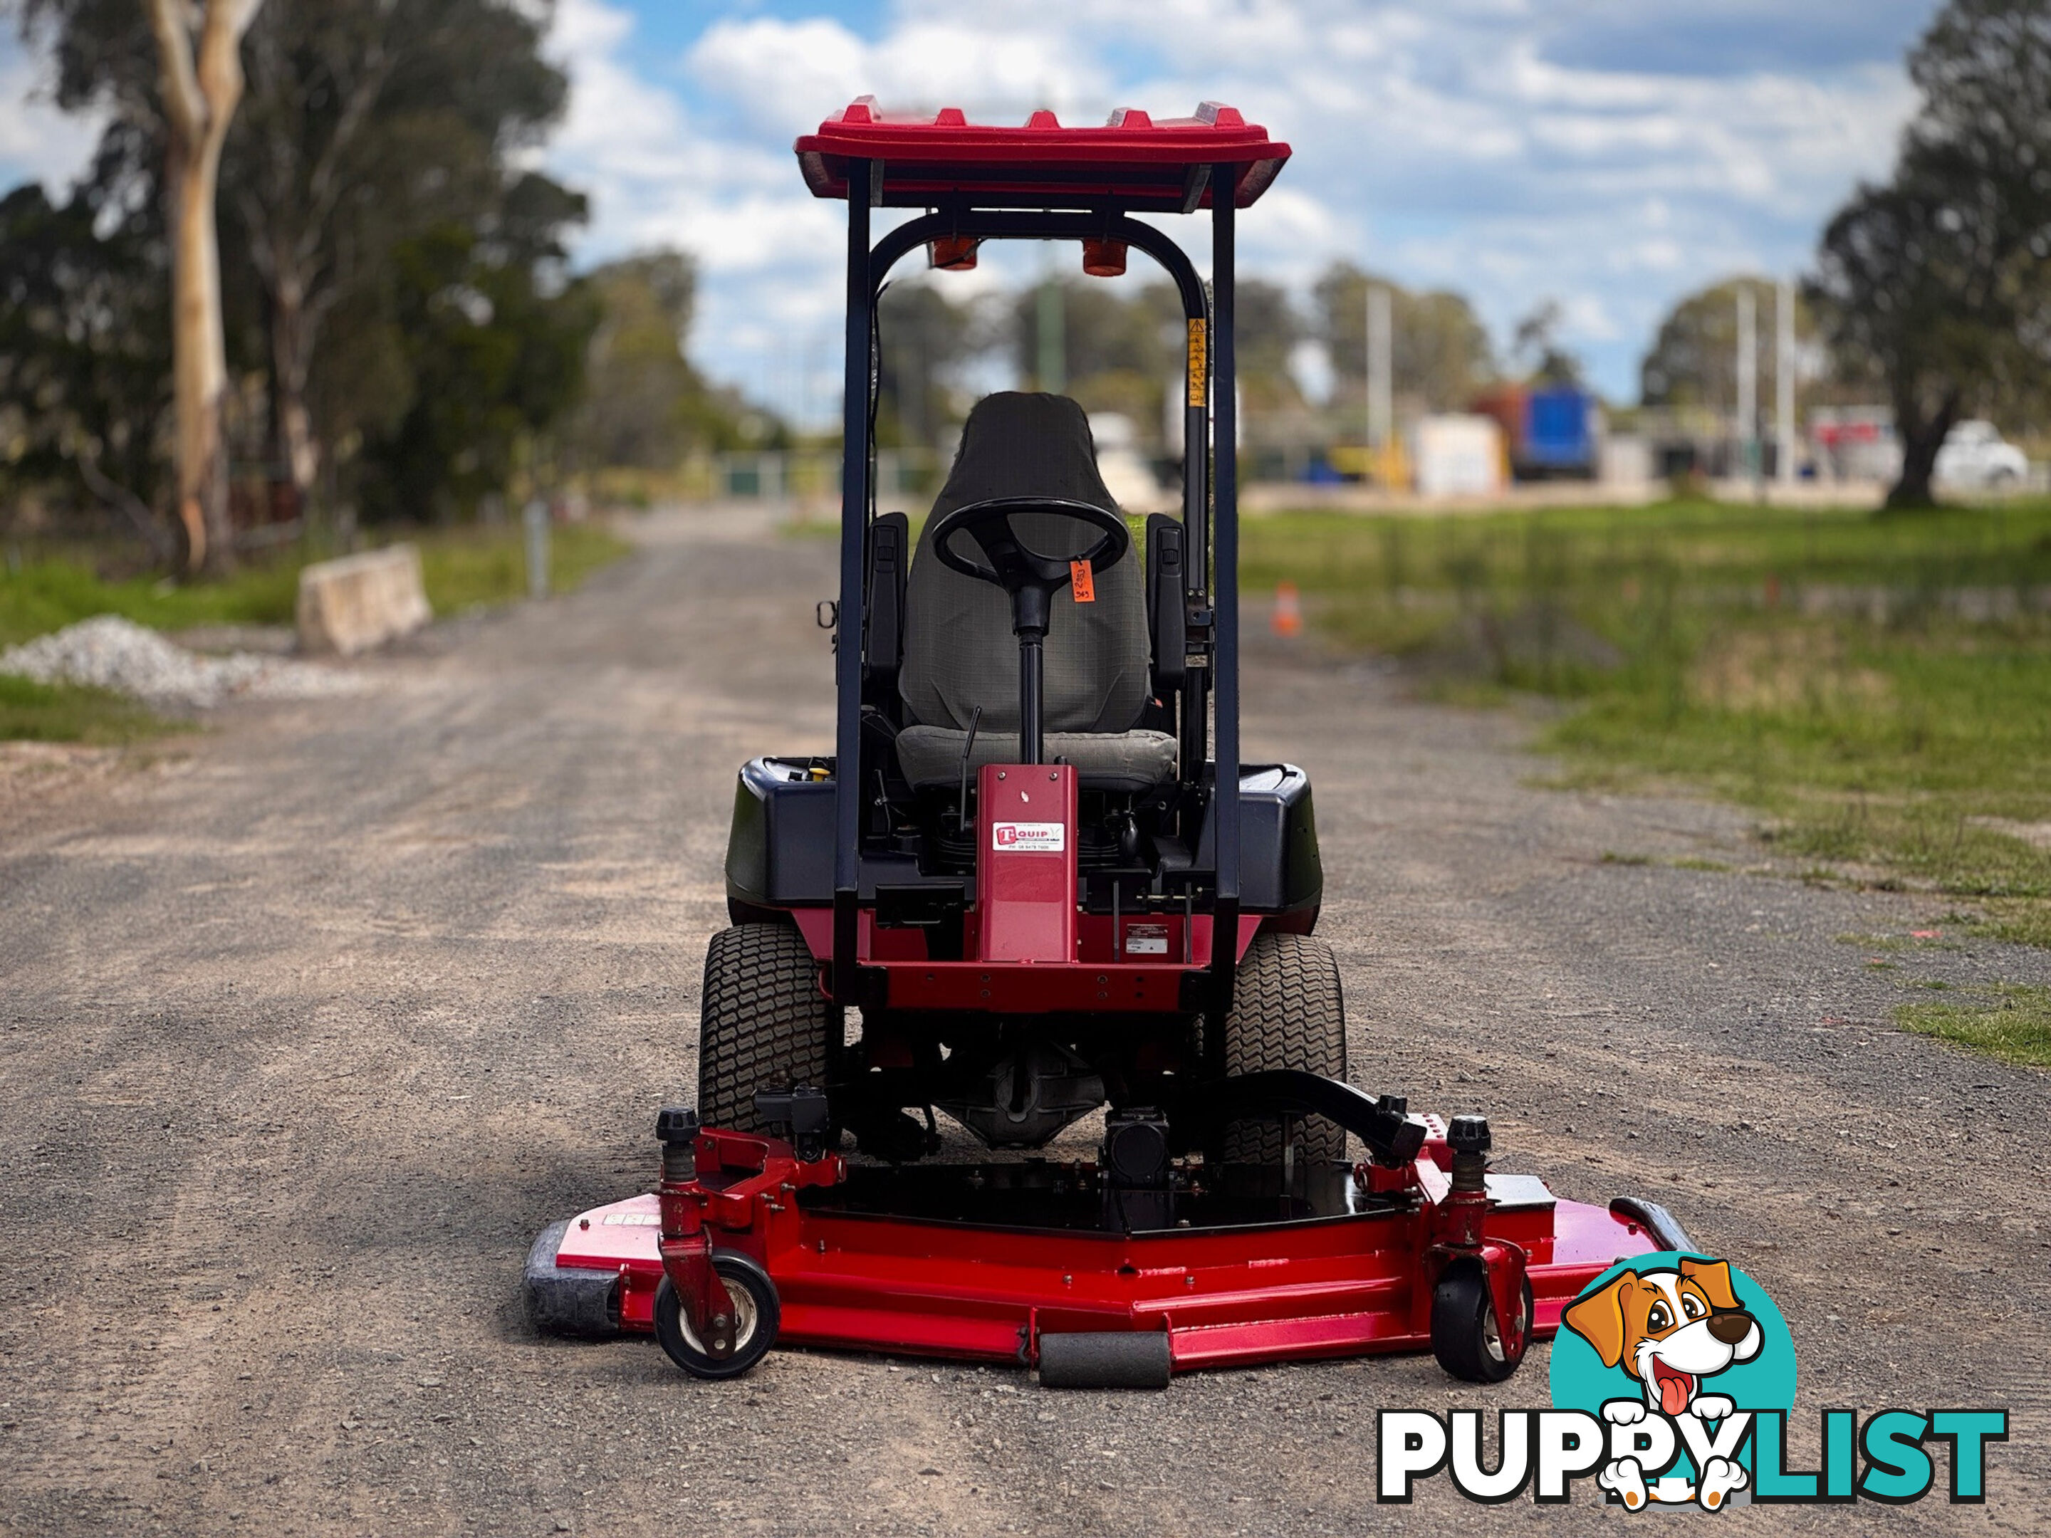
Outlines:
[[[697,1105],[658,1116],[656,1193],[535,1241],[544,1327],[654,1331],[699,1378],[781,1339],[1067,1386],[1430,1343],[1495,1382],[1614,1259],[1688,1247],[1655,1206],[1487,1173],[1479,1116],[1348,1083],[1311,781],[1239,761],[1233,226],[1286,158],[1212,105],[1069,129],[857,100],[798,139],[849,213],[837,753],[742,767]],[[876,207],[923,213],[872,246]],[[1208,295],[1132,217],[1206,207]],[[917,539],[876,511],[882,283],[987,240],[1081,242],[1103,277],[1138,248],[1181,295],[1181,517],[1147,519],[1144,564],[1060,396],[982,400]],[[1099,1107],[1093,1159],[921,1163],[935,1109],[1036,1150]]]

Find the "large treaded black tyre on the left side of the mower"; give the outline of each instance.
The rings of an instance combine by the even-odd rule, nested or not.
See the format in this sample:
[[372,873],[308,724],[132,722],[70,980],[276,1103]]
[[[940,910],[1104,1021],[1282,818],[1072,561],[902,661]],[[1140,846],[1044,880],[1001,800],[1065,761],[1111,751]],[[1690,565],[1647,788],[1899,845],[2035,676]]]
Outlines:
[[827,1087],[835,1011],[796,925],[734,925],[706,947],[697,1015],[697,1116],[763,1132],[757,1089]]

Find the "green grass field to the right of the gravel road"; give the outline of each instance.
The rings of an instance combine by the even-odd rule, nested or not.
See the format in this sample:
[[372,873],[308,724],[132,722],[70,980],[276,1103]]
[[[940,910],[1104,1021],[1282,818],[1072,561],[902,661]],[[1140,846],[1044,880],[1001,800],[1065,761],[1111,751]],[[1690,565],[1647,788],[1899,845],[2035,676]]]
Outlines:
[[1427,697],[1571,703],[1540,734],[1555,783],[1708,790],[1821,880],[2051,941],[2051,849],[2002,831],[2051,822],[2051,504],[1300,513],[1249,519],[1243,570]]

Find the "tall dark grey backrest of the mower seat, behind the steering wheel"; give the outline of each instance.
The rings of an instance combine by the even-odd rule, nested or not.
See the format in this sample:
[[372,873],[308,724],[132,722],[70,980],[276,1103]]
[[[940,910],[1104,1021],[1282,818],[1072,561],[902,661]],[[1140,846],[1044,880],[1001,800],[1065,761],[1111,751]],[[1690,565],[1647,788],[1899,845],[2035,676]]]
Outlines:
[[[1116,511],[1103,490],[1089,418],[1067,396],[1003,392],[984,396],[962,424],[954,472],[919,537],[904,595],[904,666],[898,695],[921,726],[966,730],[976,705],[982,728],[1019,728],[1019,644],[1005,591],[948,570],[933,554],[933,525],[991,496],[1067,496]],[[1079,556],[1095,529],[1054,515],[1017,519],[1028,545],[1046,556]],[[968,535],[956,535],[974,554]],[[1128,732],[1147,707],[1147,599],[1140,552],[1097,576],[1097,601],[1054,595],[1046,632],[1048,732]]]

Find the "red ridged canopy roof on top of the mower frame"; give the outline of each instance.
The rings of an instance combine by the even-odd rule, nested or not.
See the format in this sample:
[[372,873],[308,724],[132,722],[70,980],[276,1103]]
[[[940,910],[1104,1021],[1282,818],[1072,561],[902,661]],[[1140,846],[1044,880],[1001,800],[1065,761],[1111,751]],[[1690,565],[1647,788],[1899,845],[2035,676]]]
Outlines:
[[880,201],[929,207],[952,193],[978,203],[1073,207],[1118,201],[1128,209],[1210,207],[1210,168],[1235,168],[1233,201],[1247,207],[1288,160],[1288,146],[1237,109],[1204,103],[1196,117],[1151,119],[1122,107],[1103,127],[1062,127],[1034,113],[1023,127],[970,123],[958,107],[933,117],[886,117],[861,96],[818,133],[798,139],[798,168],[814,197],[847,197],[847,162],[880,160]]

